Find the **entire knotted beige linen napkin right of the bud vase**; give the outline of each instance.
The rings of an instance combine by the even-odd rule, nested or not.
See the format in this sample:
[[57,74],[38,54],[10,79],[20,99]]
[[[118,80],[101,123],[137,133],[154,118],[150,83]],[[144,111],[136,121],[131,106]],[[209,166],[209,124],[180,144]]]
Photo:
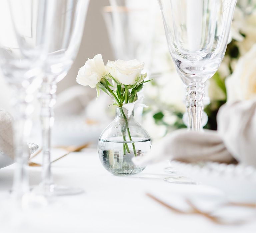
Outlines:
[[135,157],[133,161],[138,165],[166,159],[231,163],[235,158],[256,166],[256,100],[225,104],[218,113],[217,123],[218,131],[176,130],[153,143],[148,156]]

